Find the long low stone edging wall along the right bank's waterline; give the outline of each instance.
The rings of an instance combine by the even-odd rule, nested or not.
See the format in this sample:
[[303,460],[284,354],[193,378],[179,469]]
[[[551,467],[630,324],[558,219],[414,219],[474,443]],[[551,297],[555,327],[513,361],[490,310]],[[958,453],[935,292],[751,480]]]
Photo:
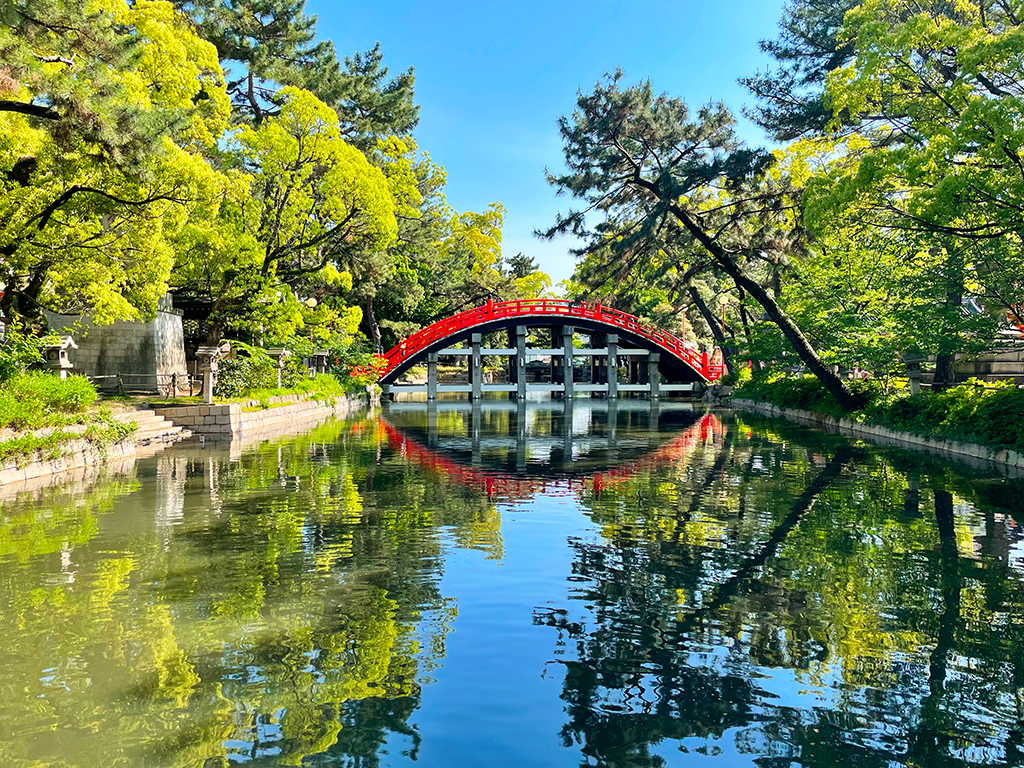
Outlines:
[[779,408],[770,402],[755,402],[739,397],[726,400],[726,404],[743,411],[751,411],[763,416],[774,416],[788,419],[800,424],[839,432],[844,435],[862,437],[884,445],[895,445],[903,449],[926,451],[932,454],[950,456],[978,467],[1005,466],[1013,470],[1012,474],[1024,474],[1024,452],[1010,449],[988,447],[975,442],[959,440],[944,440],[936,437],[925,437],[913,432],[901,432],[880,424],[860,424],[852,419],[837,419],[835,416],[817,414],[813,411],[803,411],[794,408]]

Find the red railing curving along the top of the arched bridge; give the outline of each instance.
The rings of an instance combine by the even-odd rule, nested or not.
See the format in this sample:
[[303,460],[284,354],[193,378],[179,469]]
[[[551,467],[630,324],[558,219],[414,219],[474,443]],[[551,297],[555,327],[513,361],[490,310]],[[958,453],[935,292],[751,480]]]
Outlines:
[[564,299],[523,299],[520,301],[488,301],[483,306],[453,314],[410,336],[389,349],[383,355],[379,368],[382,377],[415,358],[425,349],[439,341],[451,338],[472,328],[501,319],[553,317],[563,321],[589,319],[614,328],[621,328],[634,336],[650,341],[655,346],[685,361],[700,374],[706,381],[717,381],[724,373],[723,366],[710,365],[707,352],[698,352],[688,347],[679,337],[644,323],[628,312]]

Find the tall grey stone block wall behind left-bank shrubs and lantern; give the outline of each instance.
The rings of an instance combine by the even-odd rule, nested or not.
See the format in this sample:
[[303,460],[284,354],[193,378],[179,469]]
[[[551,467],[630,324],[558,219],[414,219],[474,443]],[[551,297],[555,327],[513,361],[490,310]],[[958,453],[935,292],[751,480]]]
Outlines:
[[173,309],[170,294],[160,300],[157,316],[148,323],[96,326],[87,316],[52,312],[46,313],[46,321],[51,329],[67,328],[74,335],[78,349],[69,355],[74,370],[96,379],[100,389],[115,389],[120,375],[129,389],[156,392],[158,376],[167,386],[171,374],[185,374],[181,315]]

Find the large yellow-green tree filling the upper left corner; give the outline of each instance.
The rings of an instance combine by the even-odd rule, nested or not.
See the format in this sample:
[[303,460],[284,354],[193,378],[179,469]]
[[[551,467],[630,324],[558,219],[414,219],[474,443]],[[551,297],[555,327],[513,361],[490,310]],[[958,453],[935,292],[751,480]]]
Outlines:
[[167,2],[0,12],[0,308],[145,316],[166,291],[169,233],[216,175],[216,52]]

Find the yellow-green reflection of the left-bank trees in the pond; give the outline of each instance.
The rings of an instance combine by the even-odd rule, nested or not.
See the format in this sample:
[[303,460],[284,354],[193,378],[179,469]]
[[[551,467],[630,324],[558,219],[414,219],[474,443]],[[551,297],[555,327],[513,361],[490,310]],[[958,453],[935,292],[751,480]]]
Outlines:
[[501,540],[486,499],[378,461],[381,440],[362,420],[241,461],[175,450],[8,504],[0,765],[297,765],[332,746],[375,765],[388,732],[415,755],[406,719],[454,617],[438,530]]

